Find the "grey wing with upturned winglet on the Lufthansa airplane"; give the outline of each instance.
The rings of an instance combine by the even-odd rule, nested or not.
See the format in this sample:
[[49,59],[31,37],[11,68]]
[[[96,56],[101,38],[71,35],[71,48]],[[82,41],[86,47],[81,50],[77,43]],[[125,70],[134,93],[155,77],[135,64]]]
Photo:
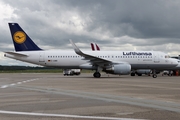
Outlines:
[[70,40],[73,48],[74,48],[74,51],[76,52],[76,54],[78,55],[81,55],[84,57],[84,60],[89,60],[89,62],[92,64],[92,65],[98,65],[98,66],[101,66],[101,67],[104,67],[104,66],[108,66],[108,65],[111,65],[111,64],[120,64],[120,63],[125,63],[125,62],[122,62],[122,61],[110,61],[110,60],[106,60],[106,59],[103,59],[103,58],[99,58],[99,57],[96,57],[96,56],[92,56],[92,55],[89,55],[89,54],[86,54],[86,53],[83,53],[73,42],[72,40]]

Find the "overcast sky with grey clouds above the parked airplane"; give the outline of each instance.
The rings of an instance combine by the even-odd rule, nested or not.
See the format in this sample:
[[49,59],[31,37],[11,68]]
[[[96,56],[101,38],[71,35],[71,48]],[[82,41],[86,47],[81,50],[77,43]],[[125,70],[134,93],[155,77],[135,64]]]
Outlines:
[[0,0],[0,65],[29,65],[3,57],[13,51],[9,22],[42,49],[154,50],[180,54],[179,0]]

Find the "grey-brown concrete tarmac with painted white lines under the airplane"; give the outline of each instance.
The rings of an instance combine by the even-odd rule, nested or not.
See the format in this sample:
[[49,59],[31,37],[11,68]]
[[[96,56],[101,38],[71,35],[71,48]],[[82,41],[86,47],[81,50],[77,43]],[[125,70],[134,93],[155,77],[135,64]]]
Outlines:
[[1,73],[1,120],[178,120],[180,77]]

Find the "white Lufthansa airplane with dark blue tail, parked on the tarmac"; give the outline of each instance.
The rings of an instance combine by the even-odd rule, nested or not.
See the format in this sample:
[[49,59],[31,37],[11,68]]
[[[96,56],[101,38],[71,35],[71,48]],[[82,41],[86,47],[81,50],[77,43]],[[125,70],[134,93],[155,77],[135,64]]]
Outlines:
[[18,23],[9,23],[15,51],[4,56],[42,66],[62,69],[95,70],[93,76],[100,78],[100,71],[117,75],[128,75],[132,69],[155,70],[175,67],[178,62],[158,51],[86,51],[82,52],[70,40],[74,51],[43,50],[38,47]]

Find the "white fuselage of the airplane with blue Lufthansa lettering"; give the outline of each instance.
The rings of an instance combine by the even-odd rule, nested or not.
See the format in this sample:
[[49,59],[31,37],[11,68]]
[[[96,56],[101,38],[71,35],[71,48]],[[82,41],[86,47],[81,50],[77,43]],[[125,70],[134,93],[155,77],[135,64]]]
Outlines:
[[[94,69],[89,60],[77,55],[74,51],[49,50],[49,51],[23,51],[16,52],[27,56],[16,56],[5,53],[6,57],[29,62],[42,66],[51,66],[70,69]],[[84,51],[112,62],[126,62],[131,69],[165,69],[175,67],[177,61],[169,58],[167,54],[157,51]]]

